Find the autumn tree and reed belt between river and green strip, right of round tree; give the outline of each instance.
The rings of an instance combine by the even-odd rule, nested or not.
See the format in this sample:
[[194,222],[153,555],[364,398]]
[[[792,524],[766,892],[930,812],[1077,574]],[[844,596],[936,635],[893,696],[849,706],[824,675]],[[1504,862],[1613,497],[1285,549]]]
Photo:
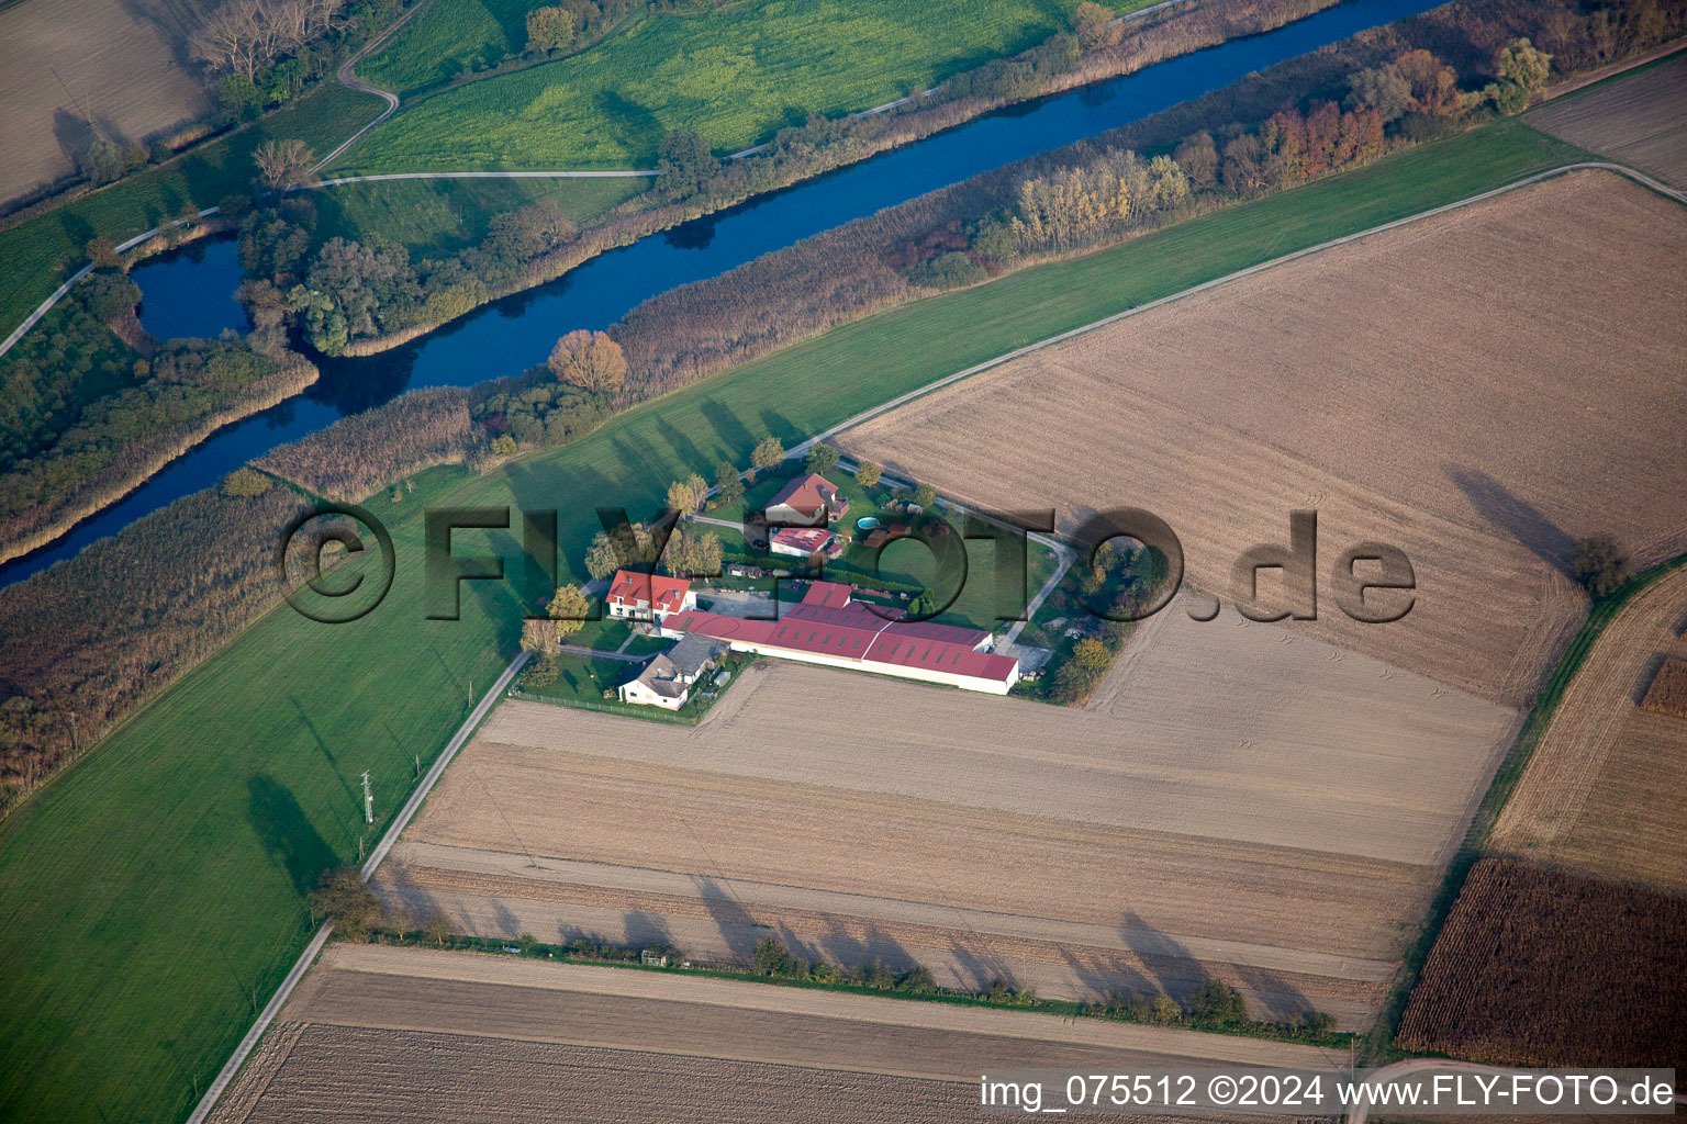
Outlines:
[[1682,0],[1466,0],[1373,29],[653,297],[611,329],[628,356],[626,394],[666,393],[931,288],[1112,244],[1466,128],[1571,72],[1554,54],[1566,44],[1569,59],[1598,66],[1684,29]]

